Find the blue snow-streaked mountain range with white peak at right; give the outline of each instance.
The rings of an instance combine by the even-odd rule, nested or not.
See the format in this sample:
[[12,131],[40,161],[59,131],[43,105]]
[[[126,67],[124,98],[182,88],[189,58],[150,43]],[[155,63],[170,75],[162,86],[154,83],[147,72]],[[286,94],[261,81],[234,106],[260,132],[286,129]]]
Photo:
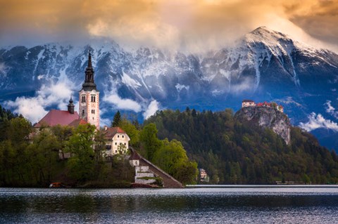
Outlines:
[[[338,149],[333,141],[338,131],[338,55],[267,27],[258,27],[234,46],[199,54],[146,47],[128,51],[106,40],[85,46],[0,48],[0,100],[34,97],[51,80],[67,81],[76,97],[89,49],[101,107],[109,108],[103,117],[111,118],[116,109],[141,114],[154,100],[180,110],[238,110],[244,98],[275,101],[292,124],[317,132],[330,129],[332,135],[323,143]],[[125,107],[130,102],[134,106]],[[333,126],[325,126],[330,122]]]

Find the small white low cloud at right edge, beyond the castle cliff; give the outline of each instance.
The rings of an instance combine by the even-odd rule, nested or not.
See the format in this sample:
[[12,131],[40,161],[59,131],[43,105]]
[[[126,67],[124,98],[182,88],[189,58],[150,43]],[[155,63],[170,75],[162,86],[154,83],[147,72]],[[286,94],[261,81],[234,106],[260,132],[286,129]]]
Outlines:
[[308,116],[309,121],[307,123],[299,123],[299,127],[306,131],[313,131],[315,129],[330,129],[332,131],[338,131],[338,124],[329,119],[325,119],[322,114],[315,114],[312,112]]

